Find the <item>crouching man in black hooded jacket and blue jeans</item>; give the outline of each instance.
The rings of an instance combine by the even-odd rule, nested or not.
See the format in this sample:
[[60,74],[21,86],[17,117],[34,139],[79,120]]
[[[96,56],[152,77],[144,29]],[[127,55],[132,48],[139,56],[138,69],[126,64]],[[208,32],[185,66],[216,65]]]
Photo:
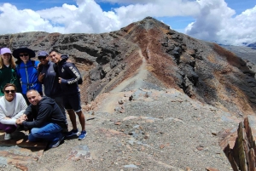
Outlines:
[[[29,141],[48,140],[49,148],[55,148],[64,140],[61,131],[67,128],[66,119],[59,106],[49,97],[42,97],[37,90],[27,91],[26,97],[31,103],[16,124],[31,129]],[[32,118],[29,120],[28,118]]]

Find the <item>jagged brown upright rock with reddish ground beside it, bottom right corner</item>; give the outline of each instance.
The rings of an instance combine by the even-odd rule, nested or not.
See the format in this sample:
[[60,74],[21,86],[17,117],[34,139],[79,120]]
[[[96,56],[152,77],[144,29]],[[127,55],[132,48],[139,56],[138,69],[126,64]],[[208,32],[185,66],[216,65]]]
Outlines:
[[233,170],[256,170],[255,161],[255,121],[249,116],[239,123],[237,131],[224,130],[219,134],[219,145],[228,157]]

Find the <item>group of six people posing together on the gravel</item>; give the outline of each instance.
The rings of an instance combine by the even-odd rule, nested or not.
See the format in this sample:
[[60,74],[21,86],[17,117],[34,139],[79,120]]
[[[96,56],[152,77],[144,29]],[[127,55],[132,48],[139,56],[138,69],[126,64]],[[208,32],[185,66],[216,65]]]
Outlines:
[[[49,54],[39,51],[38,61],[31,60],[36,54],[30,48],[17,48],[13,53],[1,48],[0,54],[0,129],[5,132],[4,140],[10,140],[17,128],[29,130],[29,141],[49,141],[49,148],[60,145],[65,137],[77,135],[84,140],[87,133],[78,85],[81,76],[68,56],[53,49]],[[69,132],[64,131],[65,111],[73,126]]]

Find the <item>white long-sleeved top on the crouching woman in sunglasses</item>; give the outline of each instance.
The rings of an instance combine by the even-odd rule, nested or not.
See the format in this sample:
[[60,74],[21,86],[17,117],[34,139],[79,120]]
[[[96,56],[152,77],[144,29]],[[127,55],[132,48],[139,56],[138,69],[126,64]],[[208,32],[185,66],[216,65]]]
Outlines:
[[[9,109],[8,105],[14,105],[15,109]],[[0,98],[0,123],[15,125],[16,119],[20,118],[20,116],[26,110],[26,100],[23,98],[22,94],[16,93],[15,99],[9,102],[5,99],[5,97]],[[5,117],[9,117],[10,119],[4,119]]]

